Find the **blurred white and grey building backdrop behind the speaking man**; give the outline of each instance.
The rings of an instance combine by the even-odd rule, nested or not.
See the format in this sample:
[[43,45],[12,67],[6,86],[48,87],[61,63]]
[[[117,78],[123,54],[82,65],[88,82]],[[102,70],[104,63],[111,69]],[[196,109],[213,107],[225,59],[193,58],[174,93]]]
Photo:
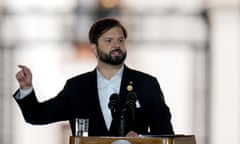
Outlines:
[[101,17],[128,29],[133,68],[156,76],[176,134],[197,144],[240,143],[239,0],[0,0],[0,143],[67,144],[67,122],[25,123],[12,98],[17,65],[39,101],[94,69],[88,30]]

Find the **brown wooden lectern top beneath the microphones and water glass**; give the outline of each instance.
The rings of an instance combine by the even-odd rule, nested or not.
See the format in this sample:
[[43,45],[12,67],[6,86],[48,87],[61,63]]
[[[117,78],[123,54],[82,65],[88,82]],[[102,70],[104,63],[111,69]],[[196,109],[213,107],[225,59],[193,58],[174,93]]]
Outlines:
[[70,137],[70,144],[196,144],[194,135],[171,137]]

